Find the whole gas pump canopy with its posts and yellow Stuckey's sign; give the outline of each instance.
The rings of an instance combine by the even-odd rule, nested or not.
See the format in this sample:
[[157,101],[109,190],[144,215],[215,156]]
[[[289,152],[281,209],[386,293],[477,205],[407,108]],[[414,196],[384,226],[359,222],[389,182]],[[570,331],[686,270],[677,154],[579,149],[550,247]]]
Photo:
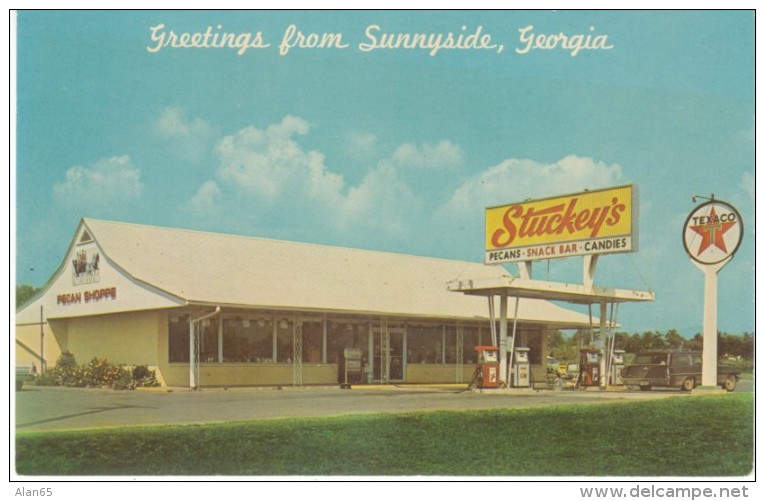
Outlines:
[[[484,240],[485,263],[517,263],[519,277],[509,273],[479,279],[456,279],[446,289],[465,295],[485,296],[492,326],[492,343],[499,348],[499,382],[519,386],[519,372],[528,359],[516,347],[520,299],[564,301],[600,309],[599,344],[607,351],[609,331],[613,333],[619,303],[654,301],[653,292],[596,286],[595,270],[600,255],[637,250],[637,186],[625,185],[601,190],[585,190],[558,197],[525,200],[486,209]],[[582,256],[582,284],[534,280],[532,265],[540,259]],[[499,335],[496,334],[494,299],[499,296]],[[508,335],[508,299],[515,298],[512,334]],[[610,320],[608,306],[611,306]],[[591,339],[594,339],[591,338]],[[611,352],[615,336],[610,335]],[[591,341],[592,342],[592,341]],[[520,354],[519,354],[520,353]],[[508,357],[510,360],[508,360]],[[512,371],[508,372],[508,362]],[[597,374],[607,373],[604,359]],[[511,374],[512,373],[512,374]],[[516,378],[511,383],[511,375]],[[605,379],[599,384],[603,386]]]

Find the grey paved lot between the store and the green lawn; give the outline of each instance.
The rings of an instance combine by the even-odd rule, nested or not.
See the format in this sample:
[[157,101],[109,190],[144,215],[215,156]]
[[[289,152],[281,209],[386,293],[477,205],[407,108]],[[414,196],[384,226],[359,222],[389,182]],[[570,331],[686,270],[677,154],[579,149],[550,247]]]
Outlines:
[[[737,390],[739,391],[739,390]],[[25,387],[16,392],[19,432],[112,426],[211,423],[381,412],[474,410],[615,400],[689,397],[667,390],[466,391],[464,386],[355,386],[115,391]]]

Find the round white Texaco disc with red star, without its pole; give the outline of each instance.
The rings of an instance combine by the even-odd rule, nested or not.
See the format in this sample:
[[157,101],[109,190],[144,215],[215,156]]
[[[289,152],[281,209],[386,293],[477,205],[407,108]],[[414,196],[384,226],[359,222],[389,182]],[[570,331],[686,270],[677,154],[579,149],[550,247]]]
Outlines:
[[701,264],[725,261],[736,253],[743,236],[741,215],[735,207],[720,200],[696,207],[683,227],[685,251]]

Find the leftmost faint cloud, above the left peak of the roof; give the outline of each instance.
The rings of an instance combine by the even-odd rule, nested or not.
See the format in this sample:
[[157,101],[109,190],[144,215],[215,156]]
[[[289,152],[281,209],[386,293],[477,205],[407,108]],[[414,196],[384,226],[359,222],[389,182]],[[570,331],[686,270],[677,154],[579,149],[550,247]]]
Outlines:
[[71,167],[64,181],[53,185],[53,198],[69,207],[103,209],[138,199],[142,191],[141,171],[123,155]]

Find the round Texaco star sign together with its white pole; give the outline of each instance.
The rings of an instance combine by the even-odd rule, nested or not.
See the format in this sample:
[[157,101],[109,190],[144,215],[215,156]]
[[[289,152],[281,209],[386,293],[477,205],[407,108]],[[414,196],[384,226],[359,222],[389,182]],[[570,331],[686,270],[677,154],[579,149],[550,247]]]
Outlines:
[[[693,197],[696,201],[696,197]],[[727,202],[715,200],[697,206],[683,226],[685,251],[704,273],[704,350],[701,385],[717,386],[717,274],[741,245],[744,236],[739,212]]]

